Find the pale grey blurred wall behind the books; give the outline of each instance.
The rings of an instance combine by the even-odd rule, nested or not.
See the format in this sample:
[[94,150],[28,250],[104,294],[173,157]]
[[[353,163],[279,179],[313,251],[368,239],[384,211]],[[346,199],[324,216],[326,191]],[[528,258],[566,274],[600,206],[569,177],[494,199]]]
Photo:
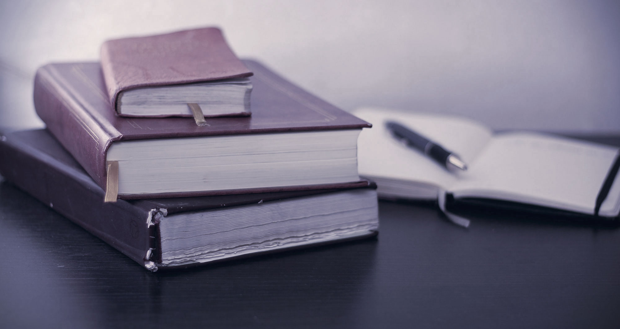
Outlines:
[[345,110],[620,132],[620,2],[585,0],[3,1],[0,125],[42,125],[40,65],[96,60],[107,38],[209,25]]

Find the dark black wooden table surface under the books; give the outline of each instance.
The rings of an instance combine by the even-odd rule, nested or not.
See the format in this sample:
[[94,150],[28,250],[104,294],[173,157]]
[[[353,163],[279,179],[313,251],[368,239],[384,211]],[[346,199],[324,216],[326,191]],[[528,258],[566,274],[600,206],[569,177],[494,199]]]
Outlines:
[[618,328],[619,229],[467,215],[382,201],[378,238],[150,273],[4,181],[0,327]]

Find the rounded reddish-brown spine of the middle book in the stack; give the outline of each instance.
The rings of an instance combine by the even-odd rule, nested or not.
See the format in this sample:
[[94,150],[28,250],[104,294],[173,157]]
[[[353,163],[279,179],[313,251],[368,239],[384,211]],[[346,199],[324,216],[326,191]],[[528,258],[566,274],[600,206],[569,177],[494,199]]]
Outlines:
[[33,99],[48,130],[105,189],[105,154],[118,136],[107,132],[84,110],[84,104],[64,87],[51,65],[37,70]]

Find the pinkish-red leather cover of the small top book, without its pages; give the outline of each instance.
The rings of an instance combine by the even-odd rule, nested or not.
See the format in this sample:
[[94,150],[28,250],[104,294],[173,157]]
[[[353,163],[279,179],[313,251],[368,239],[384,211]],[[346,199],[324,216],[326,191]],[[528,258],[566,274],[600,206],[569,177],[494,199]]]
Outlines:
[[101,47],[101,67],[115,109],[127,89],[252,75],[216,27],[108,40]]

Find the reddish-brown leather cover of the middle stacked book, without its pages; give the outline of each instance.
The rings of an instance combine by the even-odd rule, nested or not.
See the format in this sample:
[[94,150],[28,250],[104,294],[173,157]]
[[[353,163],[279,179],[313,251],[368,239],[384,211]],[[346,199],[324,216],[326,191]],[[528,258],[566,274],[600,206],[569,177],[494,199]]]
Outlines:
[[[207,120],[209,125],[203,127],[184,118],[119,117],[110,107],[99,63],[49,64],[39,68],[34,86],[35,109],[50,132],[101,187],[105,187],[107,150],[116,141],[371,127],[368,122],[312,96],[256,61],[244,63],[254,71],[254,76],[250,77],[254,85],[251,117],[212,118]],[[334,187],[341,186],[286,189]],[[198,196],[210,193],[213,194],[205,191],[157,196]],[[137,198],[144,197],[144,194],[120,197]]]

